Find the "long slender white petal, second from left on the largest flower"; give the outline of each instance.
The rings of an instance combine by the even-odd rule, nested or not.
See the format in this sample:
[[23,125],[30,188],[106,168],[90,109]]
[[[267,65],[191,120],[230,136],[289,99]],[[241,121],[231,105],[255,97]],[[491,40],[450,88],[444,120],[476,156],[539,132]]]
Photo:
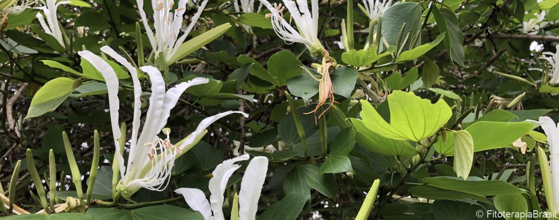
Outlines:
[[[103,51],[108,56],[112,57],[117,62],[119,62],[122,66],[124,66],[130,72],[130,76],[132,77],[132,85],[134,85],[134,118],[133,118],[134,120],[132,120],[132,136],[130,137],[131,140],[130,155],[132,155],[134,154],[134,151],[138,147],[136,146],[136,144],[138,143],[138,133],[140,129],[140,116],[141,116],[140,96],[142,91],[141,91],[140,80],[138,79],[138,70],[136,70],[136,68],[134,68],[134,66],[132,66],[131,63],[126,60],[126,58],[120,56],[118,53],[112,50],[111,47],[103,46],[101,47],[101,51]],[[129,160],[129,164],[126,166],[127,168],[130,168],[131,161],[132,160]]]

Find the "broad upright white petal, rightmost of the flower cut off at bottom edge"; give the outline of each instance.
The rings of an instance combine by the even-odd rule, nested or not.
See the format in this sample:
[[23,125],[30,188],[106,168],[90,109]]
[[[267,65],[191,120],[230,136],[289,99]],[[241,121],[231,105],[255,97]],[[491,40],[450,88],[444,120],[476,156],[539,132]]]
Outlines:
[[268,171],[268,158],[255,157],[250,160],[243,175],[241,192],[239,193],[239,220],[256,219],[258,199]]

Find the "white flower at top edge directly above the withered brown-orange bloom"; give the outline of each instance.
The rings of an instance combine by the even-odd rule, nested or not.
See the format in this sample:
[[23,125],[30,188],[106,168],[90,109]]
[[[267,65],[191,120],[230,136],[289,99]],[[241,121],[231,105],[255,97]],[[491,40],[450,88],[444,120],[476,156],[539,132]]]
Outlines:
[[[271,13],[266,17],[272,18],[272,27],[282,40],[290,44],[292,42],[303,43],[312,55],[321,54],[324,47],[318,39],[318,0],[311,0],[312,13],[309,11],[307,1],[283,0],[285,8],[291,14],[290,22],[283,19],[283,9],[281,4],[274,3],[274,6],[267,0],[259,0]],[[295,28],[291,27],[291,20],[295,21]]]

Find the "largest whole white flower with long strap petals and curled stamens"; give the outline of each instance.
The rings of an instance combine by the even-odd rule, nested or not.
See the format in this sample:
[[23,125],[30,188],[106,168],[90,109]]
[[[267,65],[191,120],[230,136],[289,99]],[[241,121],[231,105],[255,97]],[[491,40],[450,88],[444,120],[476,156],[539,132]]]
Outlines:
[[[124,165],[124,157],[121,155],[120,150],[115,151],[115,157],[117,157],[119,161],[121,174],[121,182],[117,190],[119,190],[125,198],[130,197],[130,195],[134,194],[140,188],[158,191],[165,189],[169,183],[174,160],[186,153],[187,150],[190,150],[194,144],[200,141],[202,136],[207,132],[207,126],[233,113],[240,113],[245,117],[248,116],[240,111],[227,111],[211,116],[210,118],[202,120],[196,128],[196,131],[188,135],[187,138],[173,145],[169,141],[170,130],[163,129],[165,124],[167,124],[170,110],[177,104],[184,90],[188,89],[190,86],[206,84],[208,79],[198,77],[188,82],[182,82],[165,91],[165,82],[159,70],[153,66],[143,66],[140,67],[140,70],[149,75],[151,81],[151,95],[149,97],[149,108],[145,116],[143,129],[141,130],[141,134],[139,134],[141,116],[140,95],[142,91],[138,79],[138,72],[124,57],[117,54],[110,47],[102,47],[101,51],[121,63],[121,65],[130,72],[132,84],[134,85],[134,118],[132,121],[129,158],[126,166]],[[101,57],[89,51],[80,51],[78,53],[100,71],[105,78],[113,138],[115,146],[119,146],[118,140],[123,135],[120,133],[119,129],[119,97],[117,96],[119,92],[119,80],[117,79],[115,71]],[[167,136],[164,140],[157,136],[162,130]]]

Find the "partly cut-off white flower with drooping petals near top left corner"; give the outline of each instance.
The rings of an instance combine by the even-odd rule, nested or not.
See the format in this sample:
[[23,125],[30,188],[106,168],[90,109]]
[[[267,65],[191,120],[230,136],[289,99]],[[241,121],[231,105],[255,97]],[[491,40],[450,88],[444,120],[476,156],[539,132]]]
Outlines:
[[65,47],[64,39],[62,38],[62,31],[60,30],[60,25],[58,24],[58,17],[56,16],[56,9],[61,4],[68,4],[70,1],[60,1],[56,2],[56,0],[39,0],[43,4],[41,7],[37,7],[37,9],[41,9],[46,16],[46,22],[41,13],[37,13],[37,19],[39,19],[39,23],[41,23],[42,30],[45,31],[48,35],[53,36],[61,46]]

